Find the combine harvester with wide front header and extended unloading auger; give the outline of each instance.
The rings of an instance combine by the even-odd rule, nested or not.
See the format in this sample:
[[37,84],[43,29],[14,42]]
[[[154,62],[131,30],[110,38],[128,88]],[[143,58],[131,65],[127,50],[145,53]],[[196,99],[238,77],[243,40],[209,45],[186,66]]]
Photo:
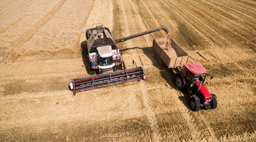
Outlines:
[[89,58],[88,67],[89,74],[92,76],[76,78],[70,82],[70,89],[73,90],[74,96],[76,92],[140,79],[145,80],[142,67],[136,66],[136,68],[126,69],[122,52],[119,52],[116,44],[162,29],[165,30],[166,33],[169,32],[166,26],[162,26],[118,40],[114,40],[110,30],[103,27],[102,24],[97,25],[95,28],[87,29],[85,34]]

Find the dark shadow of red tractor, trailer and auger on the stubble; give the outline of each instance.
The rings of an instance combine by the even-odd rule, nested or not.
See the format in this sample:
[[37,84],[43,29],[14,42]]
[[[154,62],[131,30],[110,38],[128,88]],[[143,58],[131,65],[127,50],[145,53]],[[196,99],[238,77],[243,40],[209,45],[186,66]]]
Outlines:
[[[175,71],[168,68],[166,65],[163,65],[163,66],[159,66],[158,63],[157,63],[157,60],[154,59],[154,54],[155,54],[155,51],[152,49],[152,46],[150,47],[145,47],[145,48],[139,48],[139,47],[134,47],[134,48],[126,48],[126,49],[122,49],[122,50],[119,50],[120,52],[125,52],[127,50],[133,50],[133,49],[142,49],[143,51],[143,54],[145,54],[149,59],[150,61],[152,62],[153,66],[154,67],[157,67],[159,68],[161,71],[160,71],[160,74],[162,76],[163,79],[165,79],[168,83],[168,85],[170,86],[170,88],[173,88],[179,92],[181,92],[183,94],[183,96],[179,96],[179,100],[182,101],[182,103],[188,108],[190,109],[190,106],[189,106],[189,95],[186,91],[180,91],[177,86],[175,85],[174,83],[174,78],[175,78]],[[125,59],[124,59],[125,60]],[[145,72],[145,74],[147,74],[147,72]],[[166,85],[167,86],[167,85]],[[178,95],[177,95],[178,96]]]

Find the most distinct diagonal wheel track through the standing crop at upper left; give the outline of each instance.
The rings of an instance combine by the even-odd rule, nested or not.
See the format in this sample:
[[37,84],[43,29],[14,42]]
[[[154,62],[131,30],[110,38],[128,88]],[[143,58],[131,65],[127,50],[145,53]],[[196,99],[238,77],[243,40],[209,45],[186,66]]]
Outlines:
[[15,51],[17,47],[22,47],[26,42],[28,42],[34,35],[41,29],[48,21],[53,18],[55,13],[59,11],[59,9],[64,5],[66,0],[60,1],[55,7],[53,7],[43,18],[41,18],[31,29],[24,33],[24,37],[21,37],[10,46],[10,50],[8,51],[6,57],[1,61],[9,61],[16,60],[19,55]]

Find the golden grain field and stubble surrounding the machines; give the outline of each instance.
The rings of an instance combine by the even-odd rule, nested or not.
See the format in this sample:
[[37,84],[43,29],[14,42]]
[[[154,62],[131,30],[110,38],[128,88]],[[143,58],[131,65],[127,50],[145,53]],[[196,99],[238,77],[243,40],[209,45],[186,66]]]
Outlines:
[[[0,1],[0,141],[256,141],[255,1]],[[193,112],[175,73],[158,66],[152,41],[118,43],[146,81],[79,92],[88,76],[85,30],[115,39],[166,25],[214,76],[214,110]]]

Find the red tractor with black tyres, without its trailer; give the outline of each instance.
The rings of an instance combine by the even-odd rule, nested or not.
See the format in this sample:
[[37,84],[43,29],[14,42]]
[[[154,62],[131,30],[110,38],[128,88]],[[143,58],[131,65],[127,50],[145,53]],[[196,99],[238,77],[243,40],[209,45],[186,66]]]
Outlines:
[[[216,96],[210,94],[205,84],[207,82],[207,74],[205,67],[198,62],[188,62],[183,64],[181,71],[174,68],[177,72],[175,76],[175,84],[180,90],[187,90],[190,94],[189,105],[193,111],[199,111],[201,105],[205,110],[215,109],[218,106]],[[212,79],[213,76],[210,77]]]

